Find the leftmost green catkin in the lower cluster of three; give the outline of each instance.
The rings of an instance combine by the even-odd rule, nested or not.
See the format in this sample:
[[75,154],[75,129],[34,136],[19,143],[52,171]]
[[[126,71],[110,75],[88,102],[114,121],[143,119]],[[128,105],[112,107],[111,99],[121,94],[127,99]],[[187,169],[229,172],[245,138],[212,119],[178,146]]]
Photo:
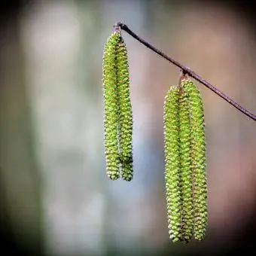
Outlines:
[[165,183],[169,236],[172,242],[181,241],[181,180],[179,157],[179,87],[171,87],[164,102]]

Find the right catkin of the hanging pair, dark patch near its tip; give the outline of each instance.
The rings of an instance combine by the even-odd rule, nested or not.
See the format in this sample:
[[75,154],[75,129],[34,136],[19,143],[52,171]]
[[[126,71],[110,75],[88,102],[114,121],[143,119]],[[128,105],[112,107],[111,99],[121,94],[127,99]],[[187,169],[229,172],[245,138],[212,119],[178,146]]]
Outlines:
[[125,181],[133,178],[133,114],[130,101],[129,63],[126,44],[120,41],[117,47],[117,84],[120,111],[120,162],[121,176]]

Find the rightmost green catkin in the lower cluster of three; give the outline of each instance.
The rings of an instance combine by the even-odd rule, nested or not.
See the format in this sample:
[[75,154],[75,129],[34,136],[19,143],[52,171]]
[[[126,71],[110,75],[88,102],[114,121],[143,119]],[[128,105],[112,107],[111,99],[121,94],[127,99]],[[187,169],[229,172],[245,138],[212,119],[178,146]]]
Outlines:
[[207,182],[206,182],[206,136],[203,102],[200,90],[189,79],[181,81],[190,98],[191,166],[194,193],[194,238],[202,240],[206,233]]

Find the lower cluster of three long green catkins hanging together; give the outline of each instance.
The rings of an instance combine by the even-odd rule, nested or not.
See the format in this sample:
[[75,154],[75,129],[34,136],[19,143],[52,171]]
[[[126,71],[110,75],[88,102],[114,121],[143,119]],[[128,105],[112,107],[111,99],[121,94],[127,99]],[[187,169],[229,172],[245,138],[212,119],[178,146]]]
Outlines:
[[206,138],[200,90],[185,78],[164,102],[165,181],[173,242],[202,240],[207,224]]

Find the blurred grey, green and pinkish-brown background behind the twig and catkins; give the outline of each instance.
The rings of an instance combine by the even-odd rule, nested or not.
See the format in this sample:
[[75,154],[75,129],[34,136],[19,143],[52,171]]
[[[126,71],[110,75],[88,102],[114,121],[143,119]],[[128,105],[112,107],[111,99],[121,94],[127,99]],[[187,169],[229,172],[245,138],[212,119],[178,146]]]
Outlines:
[[5,254],[256,252],[256,123],[198,84],[206,114],[209,225],[169,240],[163,99],[180,71],[126,32],[134,179],[105,174],[102,54],[116,21],[256,113],[249,2],[2,1],[0,224]]

